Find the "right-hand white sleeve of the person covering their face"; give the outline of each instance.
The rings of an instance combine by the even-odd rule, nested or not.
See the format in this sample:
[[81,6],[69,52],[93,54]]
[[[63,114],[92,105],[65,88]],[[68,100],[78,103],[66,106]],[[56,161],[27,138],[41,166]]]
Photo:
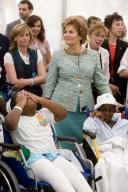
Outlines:
[[45,116],[50,125],[55,123],[54,114],[49,109],[43,108],[39,110],[39,112],[42,113],[43,116]]

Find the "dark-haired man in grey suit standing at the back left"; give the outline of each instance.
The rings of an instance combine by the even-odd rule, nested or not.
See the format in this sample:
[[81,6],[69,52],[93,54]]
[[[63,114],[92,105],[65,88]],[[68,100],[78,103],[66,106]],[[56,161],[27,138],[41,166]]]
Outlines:
[[21,0],[18,4],[20,18],[7,24],[6,36],[10,39],[11,31],[17,24],[24,23],[33,11],[33,5],[29,0]]

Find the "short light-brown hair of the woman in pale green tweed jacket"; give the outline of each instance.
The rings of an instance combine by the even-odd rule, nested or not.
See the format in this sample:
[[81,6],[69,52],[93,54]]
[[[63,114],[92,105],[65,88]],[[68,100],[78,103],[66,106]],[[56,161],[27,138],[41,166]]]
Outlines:
[[80,16],[70,16],[67,17],[62,23],[63,33],[67,25],[73,25],[81,37],[80,44],[83,44],[87,40],[87,25],[84,19]]

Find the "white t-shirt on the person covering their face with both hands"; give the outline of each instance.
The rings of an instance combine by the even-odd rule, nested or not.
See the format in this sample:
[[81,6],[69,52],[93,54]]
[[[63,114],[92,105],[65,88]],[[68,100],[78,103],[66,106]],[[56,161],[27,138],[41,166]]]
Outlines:
[[[37,118],[39,114],[42,116],[41,121]],[[54,115],[46,108],[32,117],[21,116],[18,128],[11,131],[12,139],[14,143],[26,146],[31,153],[57,152],[50,126],[53,123]]]

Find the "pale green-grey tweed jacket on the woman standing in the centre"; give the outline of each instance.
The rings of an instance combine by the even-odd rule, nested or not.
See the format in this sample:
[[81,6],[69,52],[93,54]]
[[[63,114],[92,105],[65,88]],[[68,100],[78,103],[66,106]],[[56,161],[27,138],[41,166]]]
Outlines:
[[87,49],[78,55],[59,50],[53,53],[49,65],[44,96],[61,103],[68,111],[76,111],[78,97],[80,109],[93,109],[92,81],[100,94],[111,92],[96,51]]

